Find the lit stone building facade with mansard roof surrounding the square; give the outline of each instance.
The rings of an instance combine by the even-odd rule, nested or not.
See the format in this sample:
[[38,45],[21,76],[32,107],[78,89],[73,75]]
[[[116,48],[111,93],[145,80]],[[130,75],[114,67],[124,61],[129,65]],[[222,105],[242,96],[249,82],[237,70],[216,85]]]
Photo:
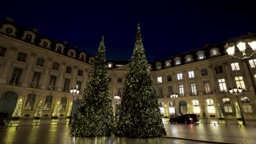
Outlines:
[[[41,35],[37,29],[19,27],[12,19],[1,20],[0,24],[0,111],[7,111],[10,116],[21,99],[21,118],[32,118],[42,101],[43,117],[52,117],[60,102],[60,117],[67,117],[73,99],[69,90],[78,85],[76,112],[94,56],[67,42]],[[249,34],[230,42],[253,41],[255,36]],[[243,88],[238,97],[245,120],[256,119],[253,88],[256,56],[247,60],[230,59],[224,48],[228,42],[148,62],[163,115],[174,116],[174,100],[170,95],[177,93],[176,115],[185,114],[189,106],[200,118],[217,118],[217,104],[220,104],[224,117],[235,119],[237,98],[229,93],[229,88],[235,86]],[[246,47],[246,53],[253,53],[248,43]],[[240,52],[236,55],[242,57]],[[129,61],[107,60],[113,106],[114,96],[122,97],[128,65]]]

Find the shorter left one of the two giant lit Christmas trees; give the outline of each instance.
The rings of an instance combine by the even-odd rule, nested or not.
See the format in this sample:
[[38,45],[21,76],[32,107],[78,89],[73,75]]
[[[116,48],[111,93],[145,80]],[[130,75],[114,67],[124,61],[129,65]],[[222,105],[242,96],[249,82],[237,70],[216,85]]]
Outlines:
[[104,37],[102,37],[77,111],[77,119],[71,128],[72,136],[110,136],[113,133],[114,113],[108,79]]

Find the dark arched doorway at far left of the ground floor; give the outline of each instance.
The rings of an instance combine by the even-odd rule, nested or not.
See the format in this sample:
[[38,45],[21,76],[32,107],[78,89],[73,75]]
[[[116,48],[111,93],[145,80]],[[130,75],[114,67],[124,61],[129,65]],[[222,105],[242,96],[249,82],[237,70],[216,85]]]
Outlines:
[[7,112],[8,117],[11,117],[16,107],[18,94],[13,91],[7,91],[2,94],[0,99],[0,112]]

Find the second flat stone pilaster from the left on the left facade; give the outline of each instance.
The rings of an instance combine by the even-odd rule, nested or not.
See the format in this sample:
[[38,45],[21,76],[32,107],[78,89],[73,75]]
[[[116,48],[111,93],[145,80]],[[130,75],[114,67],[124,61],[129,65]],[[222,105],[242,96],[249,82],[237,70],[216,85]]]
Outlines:
[[36,53],[33,53],[31,52],[31,56],[30,56],[30,59],[29,59],[29,63],[27,64],[27,68],[26,68],[26,74],[25,74],[25,78],[24,78],[24,81],[22,83],[22,86],[30,86],[29,85],[29,77],[31,77],[31,72],[33,71],[33,66],[34,66],[34,61],[35,61],[35,56],[37,56]]

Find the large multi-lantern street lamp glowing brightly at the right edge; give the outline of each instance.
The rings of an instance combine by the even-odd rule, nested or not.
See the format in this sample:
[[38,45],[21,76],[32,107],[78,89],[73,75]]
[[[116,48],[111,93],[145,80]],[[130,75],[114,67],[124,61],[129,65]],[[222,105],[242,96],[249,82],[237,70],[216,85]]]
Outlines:
[[234,43],[227,43],[226,45],[224,45],[224,48],[226,48],[227,53],[229,54],[229,56],[231,56],[232,59],[236,58],[236,59],[245,61],[248,72],[251,77],[251,83],[253,84],[254,93],[256,96],[256,84],[254,82],[254,76],[253,76],[253,73],[251,72],[250,64],[248,62],[248,59],[250,59],[256,53],[256,41],[250,41],[249,39],[246,39],[245,42],[248,43],[248,45],[253,49],[253,53],[250,56],[246,56],[246,54],[245,54],[246,43],[244,43],[244,42],[240,42],[236,45],[237,48],[239,49],[239,51],[243,53],[242,58],[234,56],[235,55],[235,44]]

